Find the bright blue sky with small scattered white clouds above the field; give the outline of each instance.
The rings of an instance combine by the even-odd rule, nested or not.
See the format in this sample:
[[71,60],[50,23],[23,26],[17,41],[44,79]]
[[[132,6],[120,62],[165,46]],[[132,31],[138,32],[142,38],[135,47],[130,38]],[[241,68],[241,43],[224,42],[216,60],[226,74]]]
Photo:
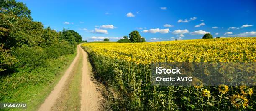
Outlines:
[[83,40],[117,41],[138,30],[146,41],[256,37],[256,0],[18,0],[33,20]]

